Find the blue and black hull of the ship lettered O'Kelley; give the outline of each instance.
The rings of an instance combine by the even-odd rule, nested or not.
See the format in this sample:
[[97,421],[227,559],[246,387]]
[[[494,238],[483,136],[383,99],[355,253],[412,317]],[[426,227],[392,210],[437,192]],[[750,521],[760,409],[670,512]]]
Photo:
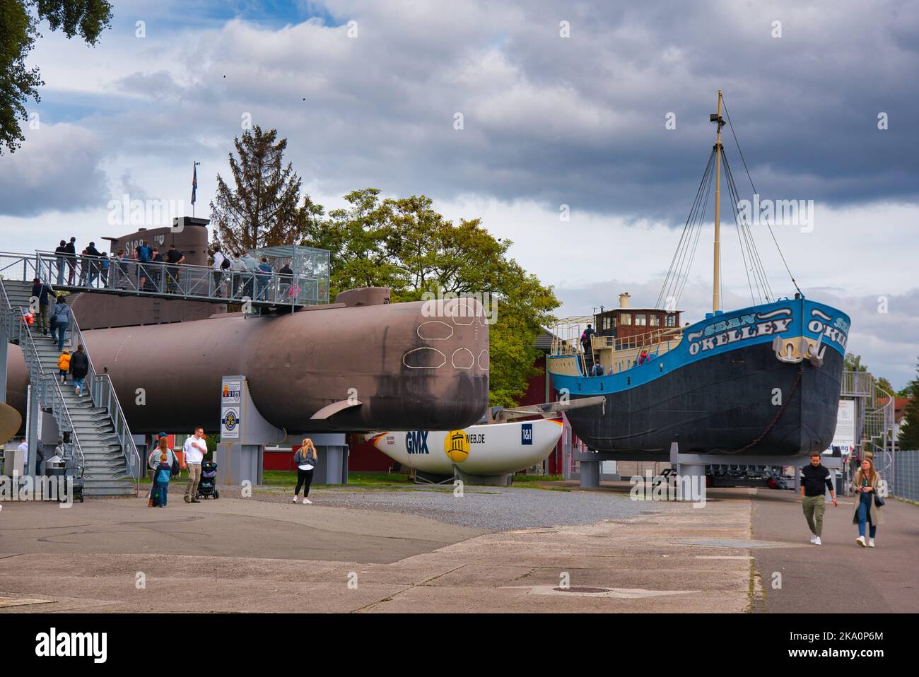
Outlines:
[[552,383],[573,400],[605,397],[602,412],[567,413],[592,450],[666,459],[677,443],[680,453],[797,457],[833,441],[848,328],[839,310],[785,300],[688,326],[644,365]]

